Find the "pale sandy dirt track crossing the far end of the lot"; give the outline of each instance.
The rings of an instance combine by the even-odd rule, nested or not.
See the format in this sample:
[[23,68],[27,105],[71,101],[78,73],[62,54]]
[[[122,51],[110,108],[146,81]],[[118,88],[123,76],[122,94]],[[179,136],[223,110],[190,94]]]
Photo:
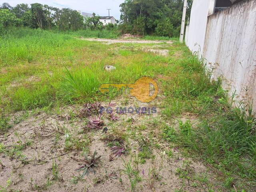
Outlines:
[[97,38],[81,38],[82,40],[87,40],[87,41],[98,41],[98,42],[107,42],[107,43],[143,43],[143,44],[148,44],[148,43],[167,43],[167,44],[172,44],[172,41],[157,41],[157,40],[133,40],[133,39],[97,39]]

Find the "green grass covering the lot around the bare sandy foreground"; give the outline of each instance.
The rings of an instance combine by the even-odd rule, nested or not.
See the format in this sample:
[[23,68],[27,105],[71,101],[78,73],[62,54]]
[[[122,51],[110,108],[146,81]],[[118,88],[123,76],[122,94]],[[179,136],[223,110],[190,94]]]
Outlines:
[[[145,45],[108,45],[76,38],[118,35],[107,31],[57,33],[21,28],[0,36],[0,130],[11,126],[8,116],[12,112],[110,100],[116,92],[102,95],[98,91],[100,84],[134,83],[141,76],[150,76],[158,82],[163,95],[157,107],[164,122],[171,124],[154,124],[162,126],[163,139],[198,154],[197,158],[224,174],[234,178],[238,175],[247,182],[255,180],[256,120],[251,106],[244,102],[231,107],[221,81],[212,81],[211,72],[184,44],[161,44],[170,52],[164,57],[139,51]],[[173,40],[151,36],[144,39]],[[174,55],[177,52],[178,57]],[[114,65],[116,70],[106,72],[105,65]],[[180,122],[176,130],[173,119],[184,114],[196,116],[198,124]]]

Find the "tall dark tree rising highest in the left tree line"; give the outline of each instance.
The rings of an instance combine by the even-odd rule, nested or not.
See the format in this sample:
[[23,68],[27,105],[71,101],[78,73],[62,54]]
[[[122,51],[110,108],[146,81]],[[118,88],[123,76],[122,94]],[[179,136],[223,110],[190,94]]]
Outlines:
[[39,3],[33,3],[31,5],[32,18],[36,21],[39,28],[44,28],[46,24],[46,18],[43,10],[43,5]]

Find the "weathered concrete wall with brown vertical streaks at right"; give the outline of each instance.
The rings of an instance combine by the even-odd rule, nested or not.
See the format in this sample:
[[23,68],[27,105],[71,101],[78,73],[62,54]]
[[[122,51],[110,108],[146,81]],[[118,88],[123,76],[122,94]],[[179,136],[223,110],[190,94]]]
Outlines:
[[230,95],[236,91],[239,99],[253,99],[256,111],[256,0],[208,17],[203,56],[214,78],[224,79],[223,88]]

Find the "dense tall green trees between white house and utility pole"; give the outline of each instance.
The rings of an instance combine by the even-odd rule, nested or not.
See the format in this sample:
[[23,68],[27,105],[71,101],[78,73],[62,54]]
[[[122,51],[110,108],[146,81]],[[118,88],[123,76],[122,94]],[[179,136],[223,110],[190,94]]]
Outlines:
[[[188,0],[187,15],[191,4]],[[183,5],[184,0],[125,0],[120,5],[122,33],[178,36]]]

